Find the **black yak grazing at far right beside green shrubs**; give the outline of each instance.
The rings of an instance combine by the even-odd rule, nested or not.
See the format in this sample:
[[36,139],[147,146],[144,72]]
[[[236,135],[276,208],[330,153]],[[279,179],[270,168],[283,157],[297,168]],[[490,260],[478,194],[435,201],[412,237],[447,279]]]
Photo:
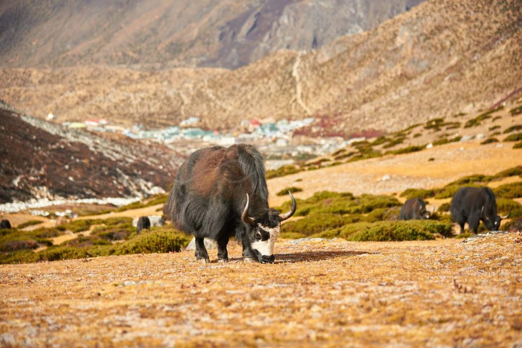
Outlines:
[[469,229],[477,234],[480,220],[490,231],[500,227],[500,221],[507,219],[496,214],[496,200],[493,191],[489,187],[461,187],[453,196],[449,206],[452,218],[460,225],[460,233],[464,233],[464,224],[467,222]]

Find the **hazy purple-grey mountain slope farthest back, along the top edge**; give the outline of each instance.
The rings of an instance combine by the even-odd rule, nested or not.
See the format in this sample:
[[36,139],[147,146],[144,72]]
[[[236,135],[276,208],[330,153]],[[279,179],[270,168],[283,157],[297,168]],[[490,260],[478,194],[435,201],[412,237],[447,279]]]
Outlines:
[[236,68],[280,49],[317,49],[421,1],[0,2],[0,66]]

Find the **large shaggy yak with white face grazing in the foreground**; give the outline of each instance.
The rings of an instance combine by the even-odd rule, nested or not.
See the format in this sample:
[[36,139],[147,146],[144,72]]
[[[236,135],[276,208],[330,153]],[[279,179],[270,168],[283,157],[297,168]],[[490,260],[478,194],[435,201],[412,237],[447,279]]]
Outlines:
[[272,263],[281,221],[296,210],[290,198],[286,213],[268,207],[263,156],[255,147],[216,146],[195,151],[181,165],[165,212],[177,229],[194,234],[200,262],[209,262],[204,238],[217,241],[218,262],[228,262],[227,244],[235,235],[244,261]]

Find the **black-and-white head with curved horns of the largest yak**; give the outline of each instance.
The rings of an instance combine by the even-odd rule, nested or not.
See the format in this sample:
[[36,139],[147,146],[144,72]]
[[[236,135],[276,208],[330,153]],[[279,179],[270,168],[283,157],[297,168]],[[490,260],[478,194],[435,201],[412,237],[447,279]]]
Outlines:
[[297,209],[295,198],[290,191],[288,193],[292,199],[292,208],[288,212],[280,214],[275,209],[269,209],[262,216],[256,218],[248,216],[249,198],[248,194],[246,195],[246,205],[241,218],[247,225],[247,242],[250,243],[254,260],[257,262],[273,263],[275,260],[274,244],[281,233],[281,221],[292,217]]

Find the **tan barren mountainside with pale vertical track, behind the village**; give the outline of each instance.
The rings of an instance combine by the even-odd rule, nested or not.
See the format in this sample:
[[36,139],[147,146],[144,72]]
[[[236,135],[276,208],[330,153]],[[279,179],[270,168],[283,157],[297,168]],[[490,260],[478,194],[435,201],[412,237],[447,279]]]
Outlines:
[[227,128],[315,116],[346,135],[400,130],[519,96],[521,42],[517,0],[430,0],[317,51],[282,50],[235,70],[4,69],[0,94],[60,122],[102,115],[151,127],[198,116]]

